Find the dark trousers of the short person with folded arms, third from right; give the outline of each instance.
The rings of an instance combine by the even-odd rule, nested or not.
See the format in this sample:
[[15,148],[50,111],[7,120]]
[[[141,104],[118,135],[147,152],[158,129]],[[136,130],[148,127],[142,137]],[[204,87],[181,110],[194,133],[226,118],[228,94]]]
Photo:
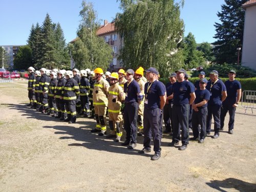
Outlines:
[[199,127],[201,126],[200,139],[205,139],[206,135],[206,116],[207,116],[207,108],[199,108],[198,112],[193,110],[192,113],[192,129],[193,135],[195,138],[199,136]]

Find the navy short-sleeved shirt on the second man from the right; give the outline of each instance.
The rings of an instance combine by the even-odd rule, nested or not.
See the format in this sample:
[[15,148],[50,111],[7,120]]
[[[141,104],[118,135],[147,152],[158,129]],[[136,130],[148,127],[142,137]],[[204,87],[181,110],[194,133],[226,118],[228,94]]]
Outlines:
[[[211,84],[212,84],[212,87],[211,87]],[[210,100],[208,101],[208,104],[221,105],[222,92],[226,91],[226,86],[224,82],[222,82],[221,80],[218,80],[215,83],[208,81],[206,89],[210,92]]]

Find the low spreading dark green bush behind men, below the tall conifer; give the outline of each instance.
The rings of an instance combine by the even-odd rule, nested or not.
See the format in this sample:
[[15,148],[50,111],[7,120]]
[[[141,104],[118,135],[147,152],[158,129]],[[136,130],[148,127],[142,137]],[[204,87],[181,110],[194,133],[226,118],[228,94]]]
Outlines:
[[[203,69],[206,76],[212,70],[217,70],[219,73],[219,77],[227,77],[227,74],[230,70],[236,71],[236,73],[237,73],[236,76],[239,78],[256,77],[256,71],[251,68],[227,64],[227,63],[225,63],[223,65],[219,65],[219,64],[211,65],[210,67]],[[193,71],[192,77],[198,77],[198,73],[199,73],[199,71]]]

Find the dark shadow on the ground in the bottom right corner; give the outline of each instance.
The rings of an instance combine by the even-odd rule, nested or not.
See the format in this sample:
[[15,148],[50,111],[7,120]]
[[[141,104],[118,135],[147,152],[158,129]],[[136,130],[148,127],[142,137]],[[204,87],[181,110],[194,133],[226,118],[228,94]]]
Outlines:
[[[213,180],[210,181],[210,183],[206,184],[209,185],[211,188],[217,189],[222,192],[229,191],[229,188],[234,188],[238,191],[256,191],[255,183],[248,183],[235,178],[228,178],[223,181]],[[226,190],[223,188],[225,188]]]

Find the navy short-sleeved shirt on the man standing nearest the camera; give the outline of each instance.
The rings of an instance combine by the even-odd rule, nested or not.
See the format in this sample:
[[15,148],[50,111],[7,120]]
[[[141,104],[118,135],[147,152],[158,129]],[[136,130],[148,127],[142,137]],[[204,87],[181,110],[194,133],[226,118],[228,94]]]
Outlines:
[[165,92],[166,89],[162,82],[157,80],[155,80],[152,83],[146,82],[144,93],[145,99],[147,99],[147,104],[144,103],[145,109],[153,110],[156,108],[160,108],[160,96],[165,95]]

